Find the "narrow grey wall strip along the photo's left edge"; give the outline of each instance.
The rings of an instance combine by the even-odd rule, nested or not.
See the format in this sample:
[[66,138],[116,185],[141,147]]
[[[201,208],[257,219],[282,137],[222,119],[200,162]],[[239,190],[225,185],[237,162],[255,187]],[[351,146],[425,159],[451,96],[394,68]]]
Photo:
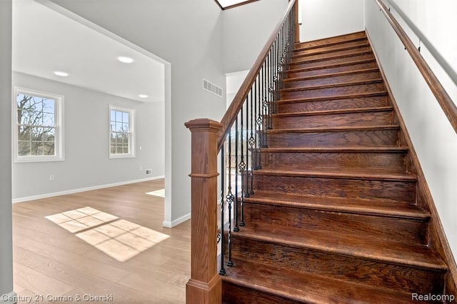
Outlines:
[[[11,0],[0,1],[0,296],[13,291],[11,224]],[[8,303],[0,298],[0,303]]]

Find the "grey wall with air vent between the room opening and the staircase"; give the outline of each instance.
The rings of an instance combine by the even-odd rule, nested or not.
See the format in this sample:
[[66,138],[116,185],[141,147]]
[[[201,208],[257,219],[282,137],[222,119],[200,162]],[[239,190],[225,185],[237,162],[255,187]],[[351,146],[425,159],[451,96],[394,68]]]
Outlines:
[[220,120],[225,98],[203,91],[202,78],[225,91],[221,10],[214,1],[53,0],[171,64],[166,101],[164,225],[189,218],[190,132],[194,118]]

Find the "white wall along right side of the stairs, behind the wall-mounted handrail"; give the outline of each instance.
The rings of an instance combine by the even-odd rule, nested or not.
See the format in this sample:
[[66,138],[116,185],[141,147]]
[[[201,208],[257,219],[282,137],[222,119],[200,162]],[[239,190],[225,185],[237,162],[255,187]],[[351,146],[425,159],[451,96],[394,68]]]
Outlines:
[[[433,46],[457,71],[456,1],[395,1],[423,31]],[[418,154],[423,172],[438,209],[443,228],[454,256],[457,253],[457,135],[444,116],[403,44],[388,25],[374,1],[366,1],[366,29],[386,72],[401,115]],[[412,37],[418,46],[418,39]],[[453,49],[452,49],[453,47]],[[453,101],[457,101],[456,85],[442,76],[422,46],[421,54],[446,83]]]

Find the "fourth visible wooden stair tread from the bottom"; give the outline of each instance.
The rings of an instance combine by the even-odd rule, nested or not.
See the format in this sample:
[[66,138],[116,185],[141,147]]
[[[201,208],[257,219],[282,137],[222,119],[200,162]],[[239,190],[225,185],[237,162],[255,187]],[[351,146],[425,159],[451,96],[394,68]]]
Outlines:
[[281,170],[277,169],[261,169],[253,171],[254,174],[269,175],[269,176],[299,176],[299,177],[317,177],[317,178],[347,178],[347,179],[371,179],[371,180],[387,180],[387,181],[417,181],[417,176],[411,173],[390,172],[381,170],[362,170],[362,169],[319,169],[318,171],[311,170]]

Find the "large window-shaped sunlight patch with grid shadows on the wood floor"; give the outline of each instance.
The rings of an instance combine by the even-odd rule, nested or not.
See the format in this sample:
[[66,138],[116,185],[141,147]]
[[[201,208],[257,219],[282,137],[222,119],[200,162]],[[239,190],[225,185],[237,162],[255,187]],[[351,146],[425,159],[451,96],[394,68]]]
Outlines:
[[71,233],[76,233],[76,237],[119,262],[125,262],[170,237],[136,223],[119,220],[117,216],[90,207],[57,213],[45,218]]

